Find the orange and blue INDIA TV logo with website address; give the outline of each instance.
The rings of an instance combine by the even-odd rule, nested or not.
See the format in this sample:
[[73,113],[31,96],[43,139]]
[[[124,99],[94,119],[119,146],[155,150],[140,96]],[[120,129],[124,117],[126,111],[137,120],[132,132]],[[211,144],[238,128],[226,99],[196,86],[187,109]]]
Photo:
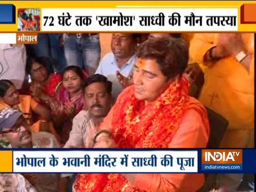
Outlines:
[[202,149],[202,170],[243,169],[242,149]]

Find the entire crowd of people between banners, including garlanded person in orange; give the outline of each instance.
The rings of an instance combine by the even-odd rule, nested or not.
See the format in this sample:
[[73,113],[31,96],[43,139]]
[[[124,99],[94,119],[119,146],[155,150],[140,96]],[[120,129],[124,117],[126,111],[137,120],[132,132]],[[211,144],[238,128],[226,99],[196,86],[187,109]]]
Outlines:
[[[101,60],[100,35],[39,34],[37,45],[0,45],[1,147],[254,147],[254,34],[114,33]],[[0,191],[254,191],[253,181],[0,174]]]

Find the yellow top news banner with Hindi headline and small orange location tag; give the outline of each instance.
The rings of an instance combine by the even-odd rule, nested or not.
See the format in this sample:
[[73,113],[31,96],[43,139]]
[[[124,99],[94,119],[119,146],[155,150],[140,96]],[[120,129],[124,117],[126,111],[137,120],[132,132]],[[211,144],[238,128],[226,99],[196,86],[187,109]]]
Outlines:
[[255,9],[256,1],[1,1],[0,43],[36,44],[41,32],[254,32]]

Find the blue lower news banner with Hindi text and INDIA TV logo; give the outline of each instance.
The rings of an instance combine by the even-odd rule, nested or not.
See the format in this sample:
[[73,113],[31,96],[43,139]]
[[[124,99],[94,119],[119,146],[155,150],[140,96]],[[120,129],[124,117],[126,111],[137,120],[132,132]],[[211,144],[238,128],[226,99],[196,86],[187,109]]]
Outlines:
[[1,149],[1,173],[255,173],[256,149]]

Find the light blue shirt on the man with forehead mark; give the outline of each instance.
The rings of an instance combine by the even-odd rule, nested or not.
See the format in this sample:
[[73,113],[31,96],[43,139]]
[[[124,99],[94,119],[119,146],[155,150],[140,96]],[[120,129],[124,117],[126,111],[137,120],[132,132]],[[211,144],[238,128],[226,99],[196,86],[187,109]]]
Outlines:
[[132,68],[137,60],[137,57],[133,55],[129,61],[124,63],[124,65],[120,68],[115,55],[113,52],[110,52],[105,55],[100,61],[99,67],[96,70],[95,74],[101,74],[108,78],[110,82],[113,83],[112,86],[112,94],[114,99],[116,100],[119,93],[122,92],[123,87],[119,83],[118,77],[116,76],[116,71],[119,71],[123,76],[128,77],[132,71]]

